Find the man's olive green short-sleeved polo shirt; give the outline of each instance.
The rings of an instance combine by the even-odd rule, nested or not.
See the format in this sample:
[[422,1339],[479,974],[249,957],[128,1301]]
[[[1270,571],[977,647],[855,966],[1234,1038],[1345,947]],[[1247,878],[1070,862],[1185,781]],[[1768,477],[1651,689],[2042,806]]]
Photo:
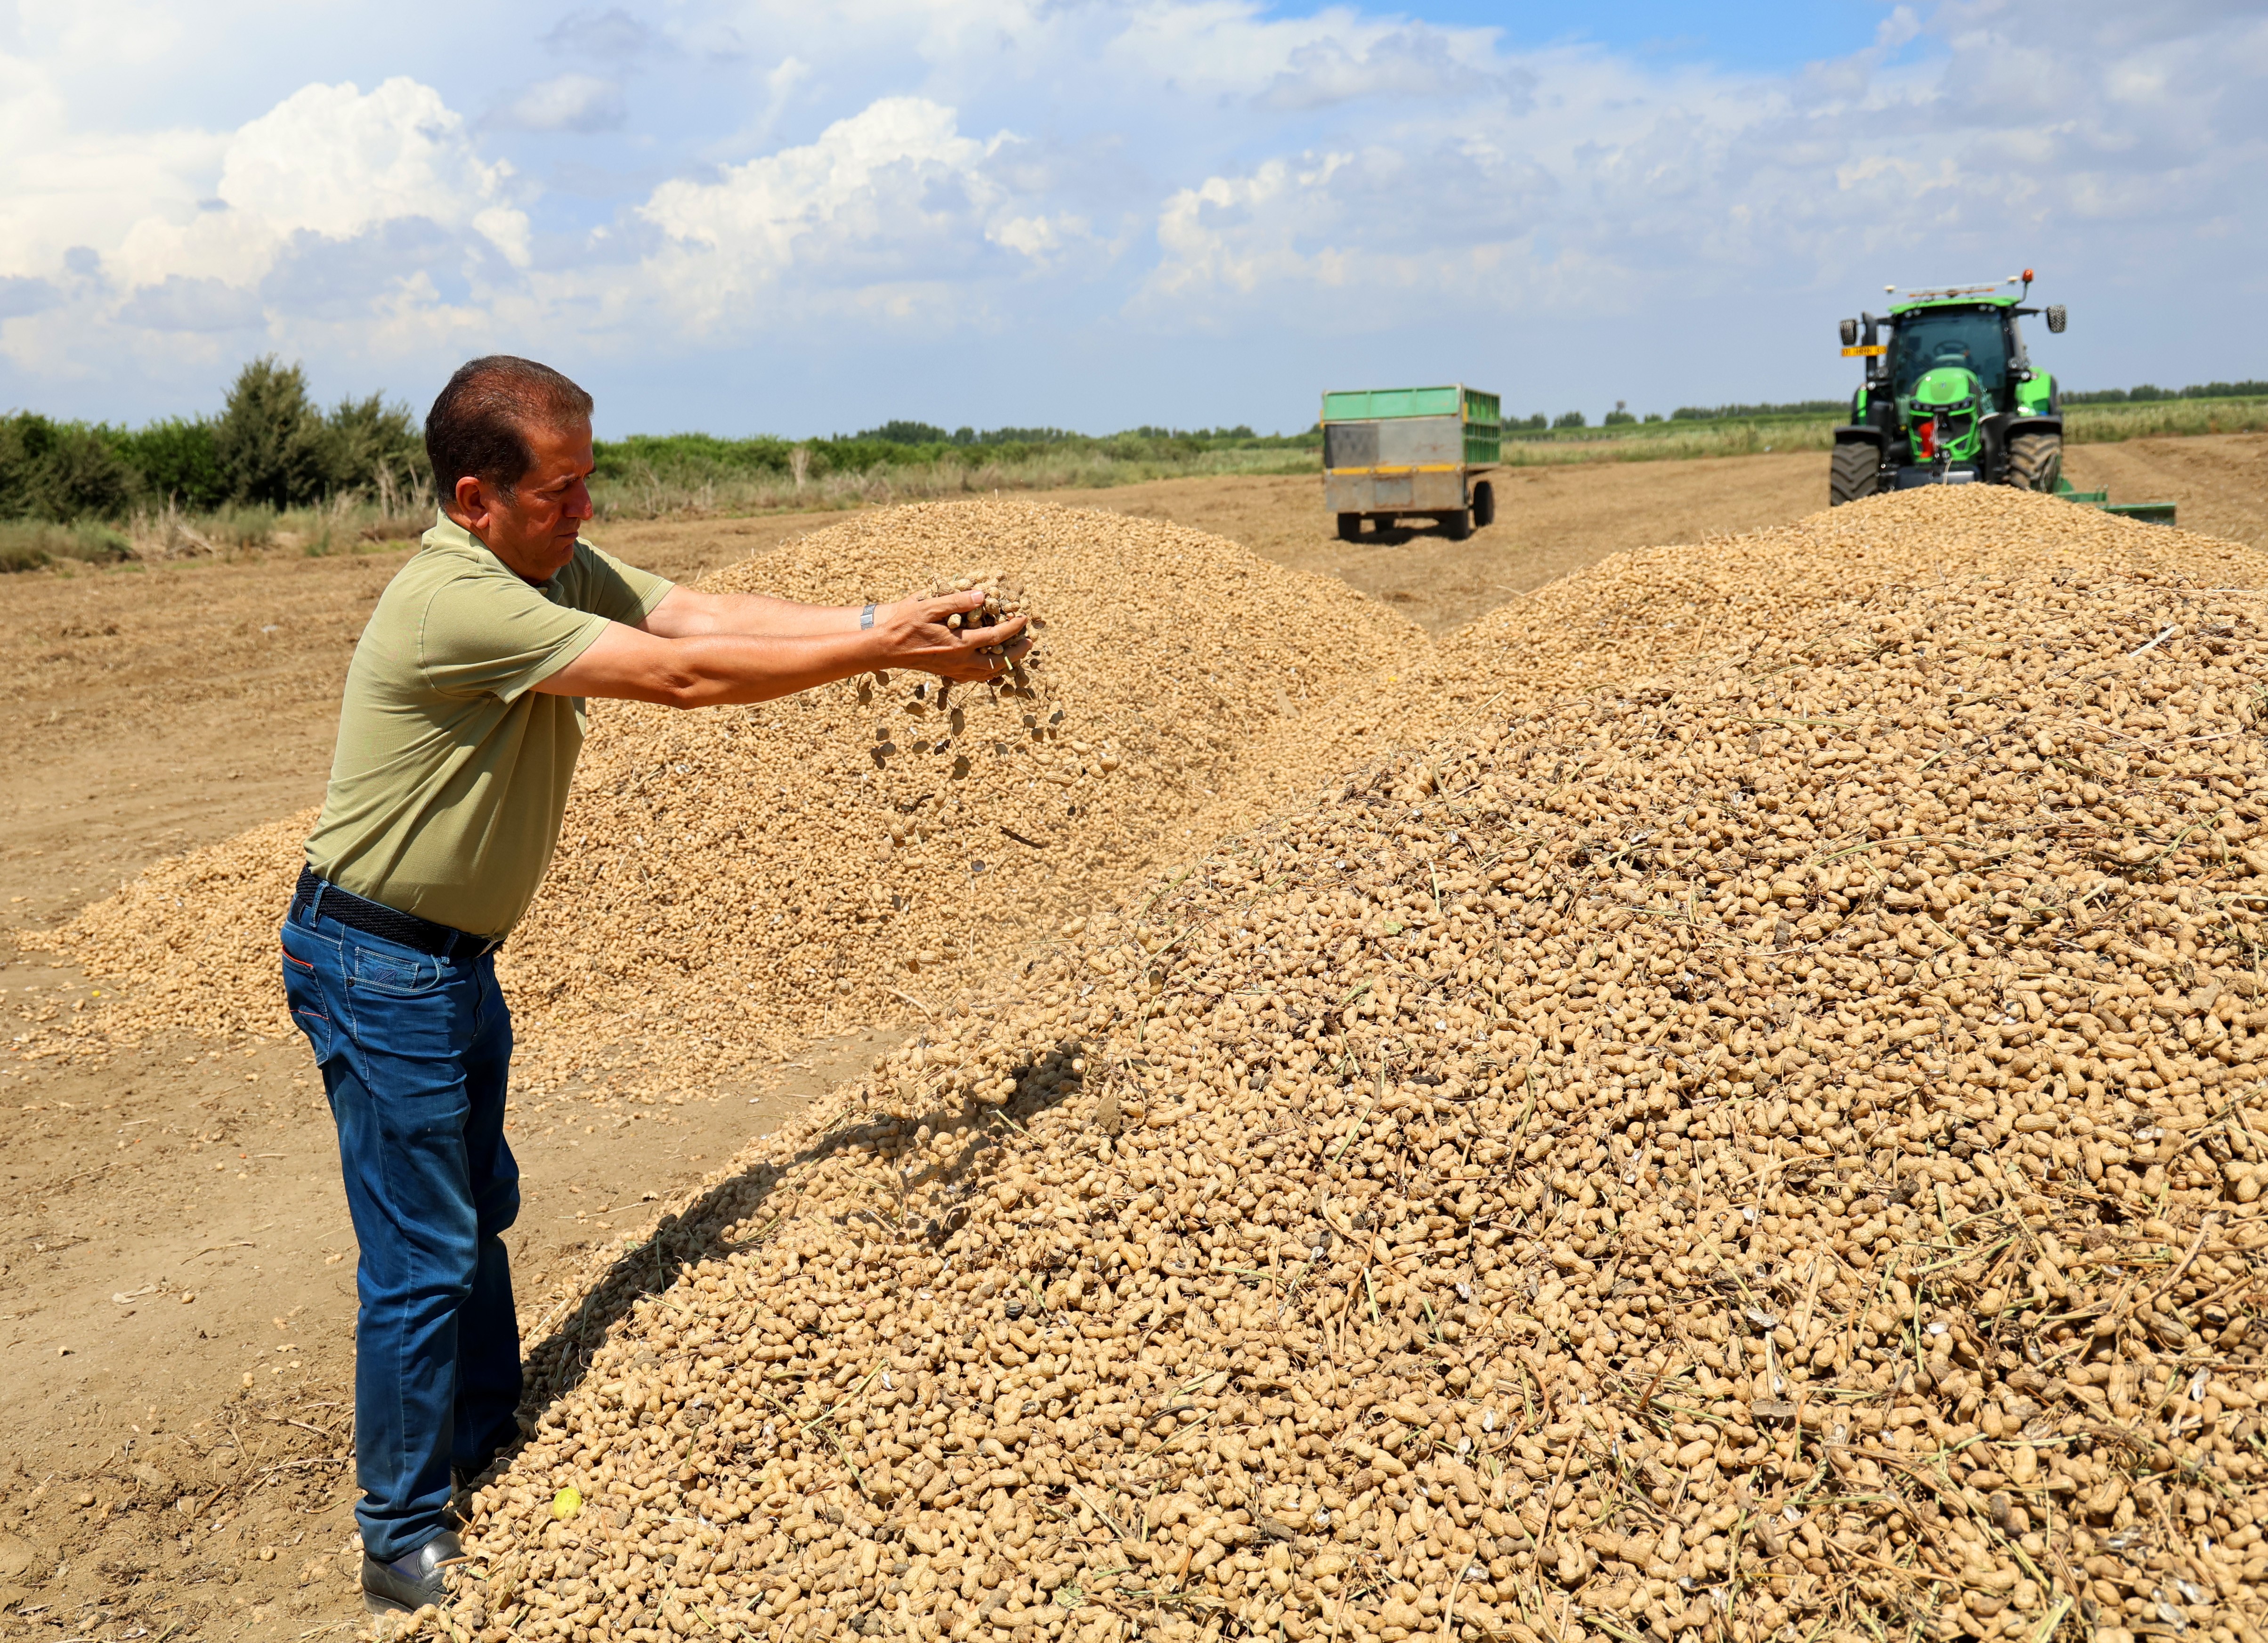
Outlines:
[[587,724],[581,697],[535,685],[671,585],[590,542],[535,585],[440,517],[354,647],[308,867],[397,912],[506,935],[551,865]]

